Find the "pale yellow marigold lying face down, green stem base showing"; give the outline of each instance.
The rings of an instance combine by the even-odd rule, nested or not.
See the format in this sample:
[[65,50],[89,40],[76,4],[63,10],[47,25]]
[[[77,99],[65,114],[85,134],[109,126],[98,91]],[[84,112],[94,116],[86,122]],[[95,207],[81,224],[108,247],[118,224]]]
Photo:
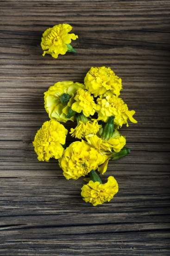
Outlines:
[[74,117],[67,118],[67,114],[78,88],[84,88],[84,85],[78,82],[63,81],[50,86],[44,93],[44,105],[50,118],[56,118],[61,122],[74,121]]

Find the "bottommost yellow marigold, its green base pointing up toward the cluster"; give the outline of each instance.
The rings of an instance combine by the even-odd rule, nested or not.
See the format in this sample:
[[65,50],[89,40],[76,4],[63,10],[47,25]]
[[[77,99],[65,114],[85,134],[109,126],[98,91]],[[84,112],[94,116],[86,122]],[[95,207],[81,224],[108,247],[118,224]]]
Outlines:
[[87,185],[82,186],[82,197],[85,202],[90,202],[93,206],[109,202],[118,192],[118,183],[113,176],[109,176],[107,182],[89,181]]

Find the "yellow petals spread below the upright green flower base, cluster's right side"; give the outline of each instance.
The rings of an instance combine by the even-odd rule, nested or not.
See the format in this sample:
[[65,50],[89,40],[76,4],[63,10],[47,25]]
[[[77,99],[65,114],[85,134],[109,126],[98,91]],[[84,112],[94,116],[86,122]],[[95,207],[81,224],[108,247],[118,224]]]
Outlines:
[[113,136],[108,141],[103,141],[97,135],[89,134],[86,136],[88,144],[101,151],[114,151],[120,152],[120,150],[126,145],[126,139],[120,135],[118,131],[114,131]]

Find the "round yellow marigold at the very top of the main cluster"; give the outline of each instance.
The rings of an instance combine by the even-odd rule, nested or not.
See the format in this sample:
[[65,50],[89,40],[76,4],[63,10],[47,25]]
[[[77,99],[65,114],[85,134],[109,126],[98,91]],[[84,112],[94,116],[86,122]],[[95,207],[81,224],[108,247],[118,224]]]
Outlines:
[[108,90],[119,96],[122,89],[121,78],[110,67],[91,67],[84,78],[84,84],[86,89],[94,94],[94,97]]

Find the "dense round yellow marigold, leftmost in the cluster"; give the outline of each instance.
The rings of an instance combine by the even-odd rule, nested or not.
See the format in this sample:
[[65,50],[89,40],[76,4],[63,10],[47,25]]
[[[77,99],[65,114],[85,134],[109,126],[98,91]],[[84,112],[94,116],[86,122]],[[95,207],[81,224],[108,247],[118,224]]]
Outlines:
[[56,120],[44,122],[35,135],[33,146],[39,161],[49,161],[51,157],[58,159],[63,155],[63,146],[67,129]]

